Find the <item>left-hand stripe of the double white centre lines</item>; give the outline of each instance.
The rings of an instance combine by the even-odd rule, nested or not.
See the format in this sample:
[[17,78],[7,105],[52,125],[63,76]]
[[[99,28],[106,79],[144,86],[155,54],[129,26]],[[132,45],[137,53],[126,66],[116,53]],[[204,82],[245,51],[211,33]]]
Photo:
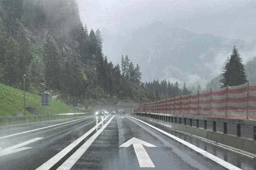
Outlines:
[[[105,119],[107,119],[107,117]],[[50,158],[48,161],[46,161],[43,165],[38,167],[36,170],[49,170],[53,165],[55,165],[59,160],[61,160],[65,155],[67,155],[67,153],[69,153],[74,147],[76,147],[81,141],[83,141],[89,134],[91,134],[96,128],[98,128],[98,126],[100,126],[105,119],[103,119],[100,123],[98,123],[92,129],[88,130],[88,132],[81,135],[78,139],[76,139],[74,142],[69,144],[69,146],[65,147],[55,156]]]

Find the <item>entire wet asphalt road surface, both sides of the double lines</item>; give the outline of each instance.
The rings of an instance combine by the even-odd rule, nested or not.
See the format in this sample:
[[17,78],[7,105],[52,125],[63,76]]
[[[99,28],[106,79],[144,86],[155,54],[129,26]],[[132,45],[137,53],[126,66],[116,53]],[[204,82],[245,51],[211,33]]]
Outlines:
[[[70,162],[72,161],[74,165],[71,165],[70,168],[68,168],[68,166],[64,167],[71,170],[226,169],[184,144],[129,116],[115,115],[113,117],[110,115],[105,120],[104,119],[105,117],[103,116],[84,116],[0,128],[0,148],[3,148],[2,152],[0,150],[0,169],[35,170],[41,165],[45,165],[45,162],[51,158],[51,160],[55,162],[53,161],[52,166],[48,166],[48,168],[44,166],[44,169],[57,169],[58,167],[63,167],[61,165],[65,163],[67,165],[71,164]],[[149,121],[146,121],[146,123],[163,129]],[[98,127],[94,128],[96,125],[98,125]],[[44,129],[17,134],[38,128]],[[74,141],[83,137],[89,130],[91,130],[92,133],[78,142],[61,158],[56,158],[59,152],[62,152],[67,146],[72,145]],[[225,150],[224,148],[214,146],[211,143],[206,143],[205,141],[181,133],[167,129],[163,130],[240,169],[256,169],[255,159]],[[17,135],[6,137],[10,134]],[[8,155],[1,156],[4,149],[35,138],[38,140],[18,147],[32,148],[14,153],[10,153],[12,149],[9,149],[9,151],[6,151],[9,153]],[[155,167],[140,167],[134,146],[119,147],[132,138],[137,138],[156,146],[143,146]],[[84,149],[83,151],[81,148],[84,147],[86,150]],[[13,150],[15,151],[15,149]],[[75,157],[74,155],[76,155],[77,152],[81,153],[81,155]]]

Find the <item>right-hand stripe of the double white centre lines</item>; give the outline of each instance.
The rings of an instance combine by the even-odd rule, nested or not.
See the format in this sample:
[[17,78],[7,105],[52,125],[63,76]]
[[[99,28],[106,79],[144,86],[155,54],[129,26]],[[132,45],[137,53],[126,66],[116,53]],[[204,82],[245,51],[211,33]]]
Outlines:
[[[115,115],[114,115],[115,116]],[[94,133],[91,138],[89,138],[78,150],[76,150],[73,155],[71,155],[61,166],[58,167],[57,170],[70,170],[71,167],[76,163],[76,161],[79,160],[79,158],[84,154],[84,152],[91,146],[93,141],[98,137],[98,135],[101,134],[101,132],[107,127],[107,125],[110,123],[110,121],[114,118],[109,119],[103,127],[98,130],[96,133]]]

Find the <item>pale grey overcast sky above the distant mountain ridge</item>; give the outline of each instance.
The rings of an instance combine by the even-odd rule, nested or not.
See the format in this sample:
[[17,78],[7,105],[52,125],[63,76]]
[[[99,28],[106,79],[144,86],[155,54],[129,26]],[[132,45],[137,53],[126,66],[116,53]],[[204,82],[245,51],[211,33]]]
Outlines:
[[158,20],[195,33],[256,39],[255,0],[78,0],[89,28],[122,35]]

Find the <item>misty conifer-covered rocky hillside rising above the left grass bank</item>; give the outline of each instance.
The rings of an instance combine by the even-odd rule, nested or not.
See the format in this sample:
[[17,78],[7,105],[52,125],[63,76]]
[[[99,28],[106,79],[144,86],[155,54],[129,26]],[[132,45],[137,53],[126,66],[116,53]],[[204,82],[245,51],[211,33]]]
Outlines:
[[27,74],[27,90],[43,82],[75,97],[97,100],[101,90],[118,98],[136,96],[140,67],[128,56],[121,67],[108,61],[100,30],[88,31],[81,23],[76,0],[0,0],[0,7],[1,83],[22,88]]

